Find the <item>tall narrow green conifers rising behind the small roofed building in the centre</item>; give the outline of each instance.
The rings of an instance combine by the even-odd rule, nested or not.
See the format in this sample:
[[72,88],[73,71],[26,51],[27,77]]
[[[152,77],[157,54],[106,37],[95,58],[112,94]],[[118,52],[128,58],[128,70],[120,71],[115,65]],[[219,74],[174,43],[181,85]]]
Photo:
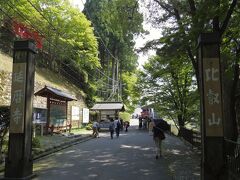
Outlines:
[[106,94],[108,99],[111,98],[111,94],[112,100],[118,99],[117,96],[114,98],[113,94],[120,94],[122,74],[136,70],[137,55],[133,50],[134,36],[143,32],[143,17],[138,9],[136,0],[86,1],[84,13],[92,21],[95,34],[99,36],[102,71],[111,77],[107,78],[99,74],[99,78],[111,85]]

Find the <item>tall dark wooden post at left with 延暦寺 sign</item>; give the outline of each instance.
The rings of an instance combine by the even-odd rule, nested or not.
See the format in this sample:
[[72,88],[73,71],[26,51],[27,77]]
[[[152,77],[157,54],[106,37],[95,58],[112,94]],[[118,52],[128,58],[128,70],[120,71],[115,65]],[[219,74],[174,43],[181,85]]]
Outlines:
[[32,102],[35,44],[14,43],[11,116],[5,179],[30,179],[32,173]]

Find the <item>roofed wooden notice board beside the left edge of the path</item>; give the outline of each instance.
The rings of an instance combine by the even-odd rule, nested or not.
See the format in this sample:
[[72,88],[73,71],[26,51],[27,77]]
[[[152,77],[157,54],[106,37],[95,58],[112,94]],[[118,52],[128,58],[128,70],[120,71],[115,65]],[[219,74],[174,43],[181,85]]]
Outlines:
[[68,101],[77,100],[70,94],[59,89],[45,86],[35,93],[35,96],[47,98],[47,121],[45,132],[71,129],[71,122],[67,120]]

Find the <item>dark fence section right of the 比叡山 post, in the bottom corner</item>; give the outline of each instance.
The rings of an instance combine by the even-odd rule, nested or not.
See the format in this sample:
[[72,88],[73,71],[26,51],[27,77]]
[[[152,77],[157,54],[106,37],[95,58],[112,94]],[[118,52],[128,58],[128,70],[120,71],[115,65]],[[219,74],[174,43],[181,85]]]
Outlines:
[[224,139],[229,179],[240,179],[240,142]]

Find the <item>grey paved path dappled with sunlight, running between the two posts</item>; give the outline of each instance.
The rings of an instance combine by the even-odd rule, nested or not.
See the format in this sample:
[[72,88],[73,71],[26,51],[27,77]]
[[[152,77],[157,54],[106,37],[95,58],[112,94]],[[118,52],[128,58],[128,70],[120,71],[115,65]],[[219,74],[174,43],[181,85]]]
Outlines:
[[178,138],[167,136],[164,157],[155,160],[152,136],[130,129],[120,138],[101,133],[34,164],[35,180],[200,179],[199,159]]

